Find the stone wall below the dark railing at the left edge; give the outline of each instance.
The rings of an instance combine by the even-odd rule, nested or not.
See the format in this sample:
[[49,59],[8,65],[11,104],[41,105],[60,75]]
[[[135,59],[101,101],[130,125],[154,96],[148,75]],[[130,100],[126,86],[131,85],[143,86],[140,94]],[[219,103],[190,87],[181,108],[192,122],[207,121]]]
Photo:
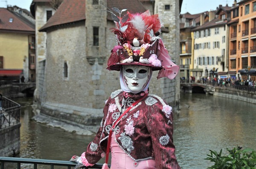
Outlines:
[[13,157],[20,153],[20,123],[0,130],[0,156]]

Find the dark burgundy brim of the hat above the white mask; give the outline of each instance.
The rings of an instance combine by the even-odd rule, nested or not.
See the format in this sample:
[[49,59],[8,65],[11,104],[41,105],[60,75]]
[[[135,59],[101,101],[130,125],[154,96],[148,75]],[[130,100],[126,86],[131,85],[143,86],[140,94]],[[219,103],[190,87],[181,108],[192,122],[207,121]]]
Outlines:
[[152,68],[152,71],[161,70],[161,69],[163,68],[163,67],[154,66],[154,65],[145,64],[145,63],[140,63],[140,62],[131,62],[131,63],[115,63],[115,64],[109,66],[107,69],[108,69],[108,70],[120,71],[120,70],[121,70],[121,67],[122,67],[123,65],[147,66],[147,67]]

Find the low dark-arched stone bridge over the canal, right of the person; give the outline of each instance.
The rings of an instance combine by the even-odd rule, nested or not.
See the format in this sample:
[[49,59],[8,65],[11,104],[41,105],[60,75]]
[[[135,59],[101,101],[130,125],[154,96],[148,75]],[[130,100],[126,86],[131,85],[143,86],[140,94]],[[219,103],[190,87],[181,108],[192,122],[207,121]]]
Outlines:
[[202,83],[180,83],[180,90],[185,93],[208,93],[208,88],[207,84]]

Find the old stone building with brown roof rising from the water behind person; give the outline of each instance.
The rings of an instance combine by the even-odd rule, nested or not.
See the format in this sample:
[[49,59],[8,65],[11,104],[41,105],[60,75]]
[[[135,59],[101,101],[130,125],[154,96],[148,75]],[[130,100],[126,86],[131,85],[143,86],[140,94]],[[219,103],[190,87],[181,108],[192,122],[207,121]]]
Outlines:
[[[182,0],[155,0],[154,3],[143,0],[142,3],[154,5],[150,7],[151,14],[159,14],[165,23],[165,33],[161,36],[172,60],[179,65],[178,16]],[[105,100],[120,88],[119,72],[106,70],[110,51],[116,45],[110,30],[114,27],[113,20],[106,7],[144,12],[147,9],[142,3],[138,0],[64,0],[61,3],[38,33],[47,36],[44,45],[47,48],[42,53],[45,59],[38,59],[40,83],[35,98],[42,114],[76,124],[99,124]],[[36,5],[39,8],[41,4]],[[40,20],[39,15],[36,19]],[[175,107],[180,93],[179,76],[158,82],[156,76],[154,72],[150,93]]]

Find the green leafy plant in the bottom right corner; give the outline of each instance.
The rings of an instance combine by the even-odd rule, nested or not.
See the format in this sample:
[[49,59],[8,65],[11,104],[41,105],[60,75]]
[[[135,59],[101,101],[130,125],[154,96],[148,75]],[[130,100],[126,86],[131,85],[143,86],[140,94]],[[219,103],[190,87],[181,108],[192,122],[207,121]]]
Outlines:
[[214,162],[214,165],[207,169],[256,169],[256,152],[253,149],[242,149],[241,146],[227,148],[228,155],[221,155],[222,149],[219,153],[209,151],[205,160]]

